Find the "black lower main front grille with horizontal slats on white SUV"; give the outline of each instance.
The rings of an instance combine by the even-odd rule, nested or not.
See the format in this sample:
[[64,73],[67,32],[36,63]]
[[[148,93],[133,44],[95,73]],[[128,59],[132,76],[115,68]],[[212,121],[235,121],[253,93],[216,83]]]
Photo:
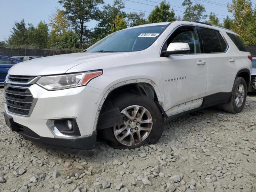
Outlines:
[[28,87],[5,86],[4,90],[8,111],[28,116],[34,100]]

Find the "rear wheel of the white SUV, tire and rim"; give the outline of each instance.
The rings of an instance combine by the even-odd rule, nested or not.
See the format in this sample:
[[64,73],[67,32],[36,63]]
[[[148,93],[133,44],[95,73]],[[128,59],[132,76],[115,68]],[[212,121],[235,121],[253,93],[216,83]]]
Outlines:
[[247,85],[242,77],[237,77],[233,89],[230,101],[223,104],[223,109],[230,113],[239,113],[243,110],[247,96]]

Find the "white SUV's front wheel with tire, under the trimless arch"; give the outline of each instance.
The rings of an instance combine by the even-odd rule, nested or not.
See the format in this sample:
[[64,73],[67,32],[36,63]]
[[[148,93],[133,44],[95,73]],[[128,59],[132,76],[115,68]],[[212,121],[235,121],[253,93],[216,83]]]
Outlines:
[[159,140],[163,132],[163,118],[154,100],[127,93],[114,98],[112,103],[120,109],[124,124],[103,130],[111,146],[132,149]]

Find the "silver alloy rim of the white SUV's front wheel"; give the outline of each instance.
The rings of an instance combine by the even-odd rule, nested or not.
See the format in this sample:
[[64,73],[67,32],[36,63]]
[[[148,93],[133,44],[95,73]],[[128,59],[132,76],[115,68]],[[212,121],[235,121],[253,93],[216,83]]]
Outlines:
[[132,105],[121,111],[124,125],[114,127],[114,135],[118,142],[126,146],[134,146],[148,138],[153,120],[150,112],[143,106]]

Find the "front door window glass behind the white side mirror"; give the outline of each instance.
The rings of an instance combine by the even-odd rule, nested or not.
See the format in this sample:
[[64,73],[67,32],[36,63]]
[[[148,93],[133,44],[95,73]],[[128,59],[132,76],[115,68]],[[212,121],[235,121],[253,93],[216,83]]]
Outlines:
[[198,36],[193,26],[182,26],[175,30],[164,44],[163,51],[167,50],[170,43],[188,43],[190,54],[200,53]]

